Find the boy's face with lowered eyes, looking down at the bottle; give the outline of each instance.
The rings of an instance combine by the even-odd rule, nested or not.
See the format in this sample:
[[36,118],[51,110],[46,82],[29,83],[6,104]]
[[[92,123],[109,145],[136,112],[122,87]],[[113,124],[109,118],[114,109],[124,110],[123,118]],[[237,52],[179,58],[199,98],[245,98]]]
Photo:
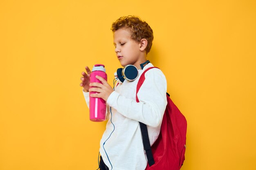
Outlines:
[[113,35],[115,52],[122,66],[132,64],[138,68],[139,56],[141,55],[140,43],[131,39],[130,32],[121,28],[114,32]]

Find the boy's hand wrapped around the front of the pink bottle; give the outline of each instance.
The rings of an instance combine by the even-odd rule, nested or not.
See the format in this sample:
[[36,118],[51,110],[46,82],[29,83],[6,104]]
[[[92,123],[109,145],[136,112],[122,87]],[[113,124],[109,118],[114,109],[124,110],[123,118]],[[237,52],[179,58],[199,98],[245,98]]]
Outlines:
[[92,88],[90,88],[89,91],[97,92],[95,94],[91,94],[91,97],[99,97],[99,98],[102,98],[103,100],[107,101],[108,97],[114,90],[108,84],[108,82],[105,79],[103,79],[101,76],[97,75],[96,78],[99,79],[99,81],[101,81],[102,84],[95,83],[95,82],[90,84],[90,86],[92,86]]

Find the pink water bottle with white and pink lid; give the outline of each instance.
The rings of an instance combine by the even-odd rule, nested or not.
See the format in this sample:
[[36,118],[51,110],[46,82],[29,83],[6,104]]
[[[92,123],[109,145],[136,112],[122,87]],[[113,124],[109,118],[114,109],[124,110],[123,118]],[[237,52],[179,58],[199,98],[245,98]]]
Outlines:
[[[96,64],[92,68],[90,74],[90,82],[101,83],[96,75],[103,77],[107,81],[107,74],[105,66],[102,64]],[[102,84],[102,83],[101,83]],[[91,88],[91,87],[90,87]],[[97,92],[90,92],[90,120],[91,121],[105,121],[106,120],[106,102],[101,98],[91,97],[91,94]]]

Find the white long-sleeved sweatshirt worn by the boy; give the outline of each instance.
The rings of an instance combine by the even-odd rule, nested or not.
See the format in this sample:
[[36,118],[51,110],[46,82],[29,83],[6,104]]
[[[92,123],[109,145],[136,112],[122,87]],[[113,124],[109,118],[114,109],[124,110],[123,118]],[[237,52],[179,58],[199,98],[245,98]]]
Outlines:
[[[110,122],[110,114],[108,115],[106,130],[100,141],[100,153],[110,170],[110,162],[112,170],[145,170],[147,158],[144,152],[139,121],[148,127],[151,146],[159,135],[167,105],[167,83],[160,69],[152,68],[145,73],[145,81],[137,94],[139,103],[136,102],[136,87],[139,77],[149,67],[153,67],[153,64],[149,63],[143,70],[139,70],[139,75],[134,81],[128,82],[125,80],[124,83],[118,84],[115,91],[108,97],[107,115],[110,114],[109,107],[111,107],[115,130],[110,136],[114,129]],[[89,92],[83,92],[83,94],[89,107]],[[106,141],[107,139],[108,141]],[[104,148],[106,152],[103,149],[105,141]]]

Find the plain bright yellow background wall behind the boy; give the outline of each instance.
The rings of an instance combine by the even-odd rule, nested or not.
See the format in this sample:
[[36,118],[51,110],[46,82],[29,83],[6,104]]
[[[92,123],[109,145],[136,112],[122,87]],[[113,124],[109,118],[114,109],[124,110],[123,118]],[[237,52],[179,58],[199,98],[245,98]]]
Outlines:
[[148,59],[188,121],[182,170],[254,170],[255,0],[1,0],[0,170],[94,170],[106,122],[89,121],[84,67],[120,64],[110,26],[138,15]]

